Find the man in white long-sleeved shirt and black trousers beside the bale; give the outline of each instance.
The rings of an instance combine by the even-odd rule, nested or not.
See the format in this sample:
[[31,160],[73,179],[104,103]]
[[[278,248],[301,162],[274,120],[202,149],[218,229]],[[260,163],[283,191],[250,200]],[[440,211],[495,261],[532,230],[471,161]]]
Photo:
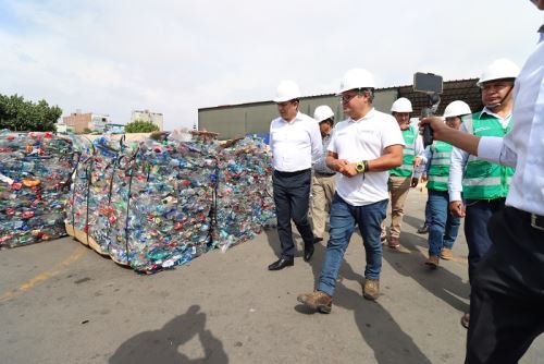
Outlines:
[[272,185],[277,217],[277,234],[282,245],[280,258],[269,265],[269,270],[293,266],[295,243],[290,220],[302,236],[304,259],[313,255],[313,234],[308,220],[311,187],[311,166],[322,154],[321,134],[316,120],[298,111],[298,85],[284,80],[276,89],[274,102],[280,118],[270,124],[270,147],[274,172]]

